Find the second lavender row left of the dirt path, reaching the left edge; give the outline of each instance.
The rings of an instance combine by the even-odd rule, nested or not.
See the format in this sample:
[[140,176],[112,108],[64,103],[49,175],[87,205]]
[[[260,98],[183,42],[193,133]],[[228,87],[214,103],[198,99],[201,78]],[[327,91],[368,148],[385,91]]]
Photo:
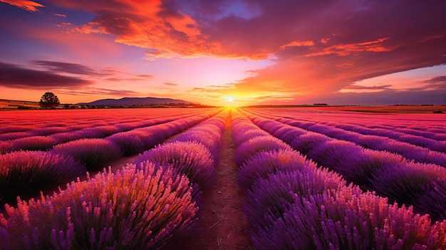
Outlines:
[[197,115],[170,123],[120,132],[105,139],[81,139],[51,151],[17,151],[0,155],[0,204],[18,195],[33,197],[65,184],[85,171],[101,170],[123,155],[135,155],[214,115]]

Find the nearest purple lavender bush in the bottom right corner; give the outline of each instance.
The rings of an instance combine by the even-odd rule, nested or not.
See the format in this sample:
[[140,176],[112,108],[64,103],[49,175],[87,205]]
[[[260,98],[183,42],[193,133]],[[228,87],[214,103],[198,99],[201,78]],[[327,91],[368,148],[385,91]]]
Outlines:
[[[358,187],[294,196],[282,217],[266,216],[252,239],[257,249],[442,249],[445,223],[389,205]],[[433,234],[432,234],[433,233]]]

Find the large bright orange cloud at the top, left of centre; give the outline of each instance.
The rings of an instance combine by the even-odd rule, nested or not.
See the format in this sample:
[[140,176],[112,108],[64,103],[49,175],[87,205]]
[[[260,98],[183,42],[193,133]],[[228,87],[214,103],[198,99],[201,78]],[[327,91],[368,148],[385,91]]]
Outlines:
[[115,35],[115,42],[147,48],[147,59],[175,55],[224,56],[219,44],[209,43],[191,16],[175,7],[164,6],[162,1],[110,2],[108,7],[85,6],[82,1],[78,5],[68,1],[61,4],[90,9],[98,14],[90,23],[73,27],[71,31]]

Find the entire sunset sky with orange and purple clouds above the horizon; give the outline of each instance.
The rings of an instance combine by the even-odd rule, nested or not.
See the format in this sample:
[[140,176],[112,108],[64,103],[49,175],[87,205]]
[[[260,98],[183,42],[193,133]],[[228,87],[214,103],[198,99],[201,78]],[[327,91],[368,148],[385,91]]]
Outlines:
[[0,0],[0,99],[445,105],[444,0]]

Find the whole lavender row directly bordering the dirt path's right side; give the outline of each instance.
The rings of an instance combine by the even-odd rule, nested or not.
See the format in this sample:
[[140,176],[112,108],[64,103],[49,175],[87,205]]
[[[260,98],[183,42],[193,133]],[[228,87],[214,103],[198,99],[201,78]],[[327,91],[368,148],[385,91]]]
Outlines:
[[[257,249],[442,249],[446,222],[388,200],[318,168],[259,127],[234,115],[242,165],[237,181]],[[247,136],[247,133],[251,137]],[[269,137],[267,140],[264,137]],[[242,139],[244,138],[244,139]],[[249,157],[247,150],[255,147]],[[263,148],[263,149],[262,149]]]

